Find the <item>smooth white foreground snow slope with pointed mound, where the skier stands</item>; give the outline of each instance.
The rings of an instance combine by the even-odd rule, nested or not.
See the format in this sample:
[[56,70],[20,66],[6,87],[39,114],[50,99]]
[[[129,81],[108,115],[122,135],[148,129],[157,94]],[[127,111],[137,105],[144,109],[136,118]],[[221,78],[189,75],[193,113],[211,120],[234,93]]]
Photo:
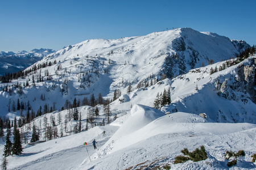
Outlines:
[[[129,114],[110,125],[96,126],[69,137],[27,146],[23,155],[7,158],[8,167],[139,169],[168,164],[172,169],[226,169],[225,151],[244,150],[246,156],[238,161],[236,169],[256,169],[256,165],[250,162],[250,155],[256,152],[256,125],[208,122],[205,118],[184,112],[162,115],[152,108],[135,105]],[[103,130],[106,136],[102,135]],[[93,139],[98,141],[99,150],[93,150]],[[89,143],[86,147],[92,162],[84,142]],[[175,156],[181,155],[183,148],[192,151],[201,145],[208,152],[207,160],[173,164]]]

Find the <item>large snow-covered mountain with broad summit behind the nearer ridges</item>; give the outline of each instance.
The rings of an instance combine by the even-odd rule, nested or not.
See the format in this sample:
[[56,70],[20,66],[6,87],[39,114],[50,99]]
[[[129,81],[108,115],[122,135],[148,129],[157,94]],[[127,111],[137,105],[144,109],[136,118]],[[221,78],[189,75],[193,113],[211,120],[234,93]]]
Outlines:
[[[82,100],[92,94],[112,99],[114,90],[125,94],[129,83],[134,89],[141,88],[165,76],[187,73],[202,63],[235,57],[248,46],[244,41],[230,41],[191,28],[117,40],[86,40],[44,57],[24,71],[27,76],[12,80],[13,84],[27,82],[28,86],[8,88],[11,94],[2,92],[2,115],[10,110],[10,102],[16,103],[19,98],[23,103],[30,100],[34,111],[53,101],[60,109],[66,100]],[[2,86],[3,90],[5,84]],[[49,100],[35,100],[42,94]]]

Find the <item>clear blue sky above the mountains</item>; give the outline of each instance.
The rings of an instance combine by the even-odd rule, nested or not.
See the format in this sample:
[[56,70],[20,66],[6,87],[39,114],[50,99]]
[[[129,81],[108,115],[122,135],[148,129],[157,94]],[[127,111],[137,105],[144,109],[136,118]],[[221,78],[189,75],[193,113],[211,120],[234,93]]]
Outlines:
[[0,0],[0,51],[190,27],[256,44],[256,0]]

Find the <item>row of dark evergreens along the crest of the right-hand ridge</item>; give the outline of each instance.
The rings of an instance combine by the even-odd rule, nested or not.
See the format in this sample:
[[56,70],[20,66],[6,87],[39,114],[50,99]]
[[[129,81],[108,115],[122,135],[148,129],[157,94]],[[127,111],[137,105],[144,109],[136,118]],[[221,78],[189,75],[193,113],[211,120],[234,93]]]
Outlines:
[[237,58],[228,59],[227,61],[222,63],[222,65],[220,65],[218,68],[217,68],[217,66],[214,69],[211,67],[210,74],[213,74],[218,71],[225,70],[228,67],[234,66],[255,53],[256,53],[256,48],[255,48],[255,45],[253,45],[251,48],[247,48],[242,53],[238,54]]

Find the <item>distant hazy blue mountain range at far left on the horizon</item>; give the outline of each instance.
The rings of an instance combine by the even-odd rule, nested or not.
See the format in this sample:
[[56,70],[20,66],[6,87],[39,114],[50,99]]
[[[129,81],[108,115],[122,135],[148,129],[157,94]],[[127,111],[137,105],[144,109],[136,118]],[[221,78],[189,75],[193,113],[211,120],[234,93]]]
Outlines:
[[30,52],[0,52],[0,76],[26,69],[43,57],[56,52],[52,49],[33,49]]

